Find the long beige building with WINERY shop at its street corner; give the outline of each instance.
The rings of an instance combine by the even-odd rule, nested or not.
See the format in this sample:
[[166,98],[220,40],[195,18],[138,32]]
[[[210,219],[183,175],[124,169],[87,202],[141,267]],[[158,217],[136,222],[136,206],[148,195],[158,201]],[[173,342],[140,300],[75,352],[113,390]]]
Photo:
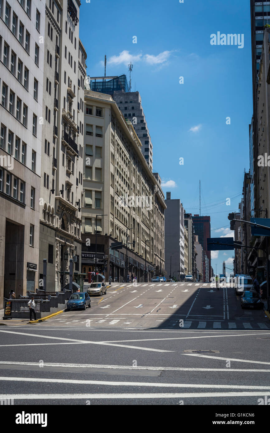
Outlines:
[[[156,267],[164,271],[161,185],[141,153],[132,123],[112,97],[85,90],[84,103],[82,271],[96,267],[107,281],[109,276],[123,281],[129,271],[138,281],[149,281]],[[130,242],[128,250],[110,249],[116,241]]]

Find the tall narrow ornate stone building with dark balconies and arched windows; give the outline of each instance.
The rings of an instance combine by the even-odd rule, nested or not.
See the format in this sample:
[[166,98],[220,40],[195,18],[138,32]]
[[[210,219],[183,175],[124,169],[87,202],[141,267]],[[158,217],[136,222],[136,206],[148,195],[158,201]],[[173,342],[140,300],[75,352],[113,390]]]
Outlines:
[[86,52],[79,40],[80,1],[46,0],[41,146],[39,278],[61,290],[80,272]]

